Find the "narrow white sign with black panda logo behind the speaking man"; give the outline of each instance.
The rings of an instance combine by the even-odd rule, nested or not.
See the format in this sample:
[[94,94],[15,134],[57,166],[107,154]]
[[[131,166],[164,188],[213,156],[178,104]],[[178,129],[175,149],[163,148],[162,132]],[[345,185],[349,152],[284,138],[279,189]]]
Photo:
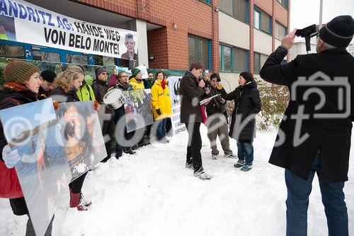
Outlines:
[[185,124],[181,123],[181,99],[179,96],[179,86],[181,83],[181,79],[182,77],[167,78],[167,80],[169,81],[169,91],[172,106],[171,124],[173,135],[181,133],[185,130]]

